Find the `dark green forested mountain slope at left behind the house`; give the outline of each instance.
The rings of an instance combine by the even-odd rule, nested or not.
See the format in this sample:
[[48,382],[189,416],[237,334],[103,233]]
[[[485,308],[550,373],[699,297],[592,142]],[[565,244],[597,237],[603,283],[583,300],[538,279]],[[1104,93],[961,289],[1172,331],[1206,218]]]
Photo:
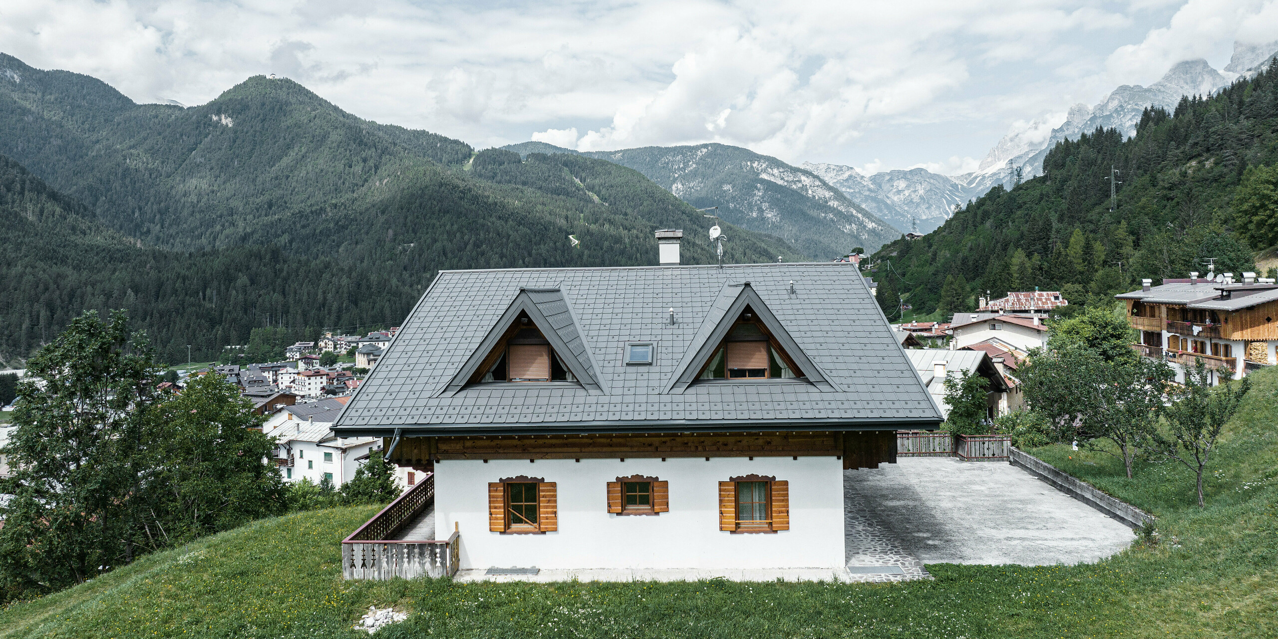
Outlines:
[[[6,276],[23,273],[4,284],[4,359],[87,308],[128,308],[170,362],[187,344],[216,358],[267,316],[295,328],[394,326],[437,270],[656,265],[658,227],[688,231],[684,263],[714,261],[712,220],[638,171],[474,155],[359,120],[286,79],[250,78],[181,109],[0,56],[0,153],[31,170],[10,183],[47,181],[36,180],[40,197],[89,225],[36,224],[27,245],[3,240]],[[804,257],[780,238],[731,233],[726,261]]]

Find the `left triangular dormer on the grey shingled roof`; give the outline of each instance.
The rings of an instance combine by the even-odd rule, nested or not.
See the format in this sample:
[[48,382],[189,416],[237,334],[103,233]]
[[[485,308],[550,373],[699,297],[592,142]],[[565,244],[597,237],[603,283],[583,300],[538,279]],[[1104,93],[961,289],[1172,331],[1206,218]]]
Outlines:
[[[555,373],[562,377],[556,380]],[[438,396],[486,382],[555,381],[575,382],[592,395],[604,394],[564,293],[521,288]]]

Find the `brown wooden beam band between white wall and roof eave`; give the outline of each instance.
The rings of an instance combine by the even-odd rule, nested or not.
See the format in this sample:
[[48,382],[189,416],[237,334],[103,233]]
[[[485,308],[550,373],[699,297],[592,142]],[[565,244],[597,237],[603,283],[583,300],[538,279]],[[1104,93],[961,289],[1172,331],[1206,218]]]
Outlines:
[[405,437],[399,445],[401,450],[395,451],[392,460],[400,465],[412,465],[397,460],[424,464],[427,459],[835,456],[842,451],[840,437],[840,433],[826,431]]

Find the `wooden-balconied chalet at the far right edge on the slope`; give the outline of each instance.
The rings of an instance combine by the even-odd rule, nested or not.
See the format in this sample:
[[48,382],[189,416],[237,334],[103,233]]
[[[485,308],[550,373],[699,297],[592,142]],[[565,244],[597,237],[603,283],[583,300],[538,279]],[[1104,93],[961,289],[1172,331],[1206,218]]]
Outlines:
[[1127,321],[1139,331],[1132,346],[1145,357],[1166,360],[1183,381],[1183,369],[1203,360],[1214,378],[1241,378],[1278,363],[1278,284],[1242,273],[1208,273],[1166,279],[1154,286],[1116,295],[1127,304]]

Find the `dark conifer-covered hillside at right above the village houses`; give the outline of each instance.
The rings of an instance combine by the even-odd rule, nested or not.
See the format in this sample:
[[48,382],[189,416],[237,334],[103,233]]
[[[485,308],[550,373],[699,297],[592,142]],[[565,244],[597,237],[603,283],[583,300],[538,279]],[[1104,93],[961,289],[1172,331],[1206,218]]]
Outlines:
[[[1254,268],[1278,242],[1278,66],[1174,114],[1148,109],[1134,138],[1097,129],[1047,155],[1044,175],[996,187],[941,229],[874,257],[883,294],[916,312],[971,307],[984,291],[1065,291],[1071,304],[1141,277]],[[1109,170],[1120,171],[1109,210]],[[888,263],[891,266],[888,266]],[[887,289],[887,290],[886,290]],[[895,289],[895,290],[892,290]]]

